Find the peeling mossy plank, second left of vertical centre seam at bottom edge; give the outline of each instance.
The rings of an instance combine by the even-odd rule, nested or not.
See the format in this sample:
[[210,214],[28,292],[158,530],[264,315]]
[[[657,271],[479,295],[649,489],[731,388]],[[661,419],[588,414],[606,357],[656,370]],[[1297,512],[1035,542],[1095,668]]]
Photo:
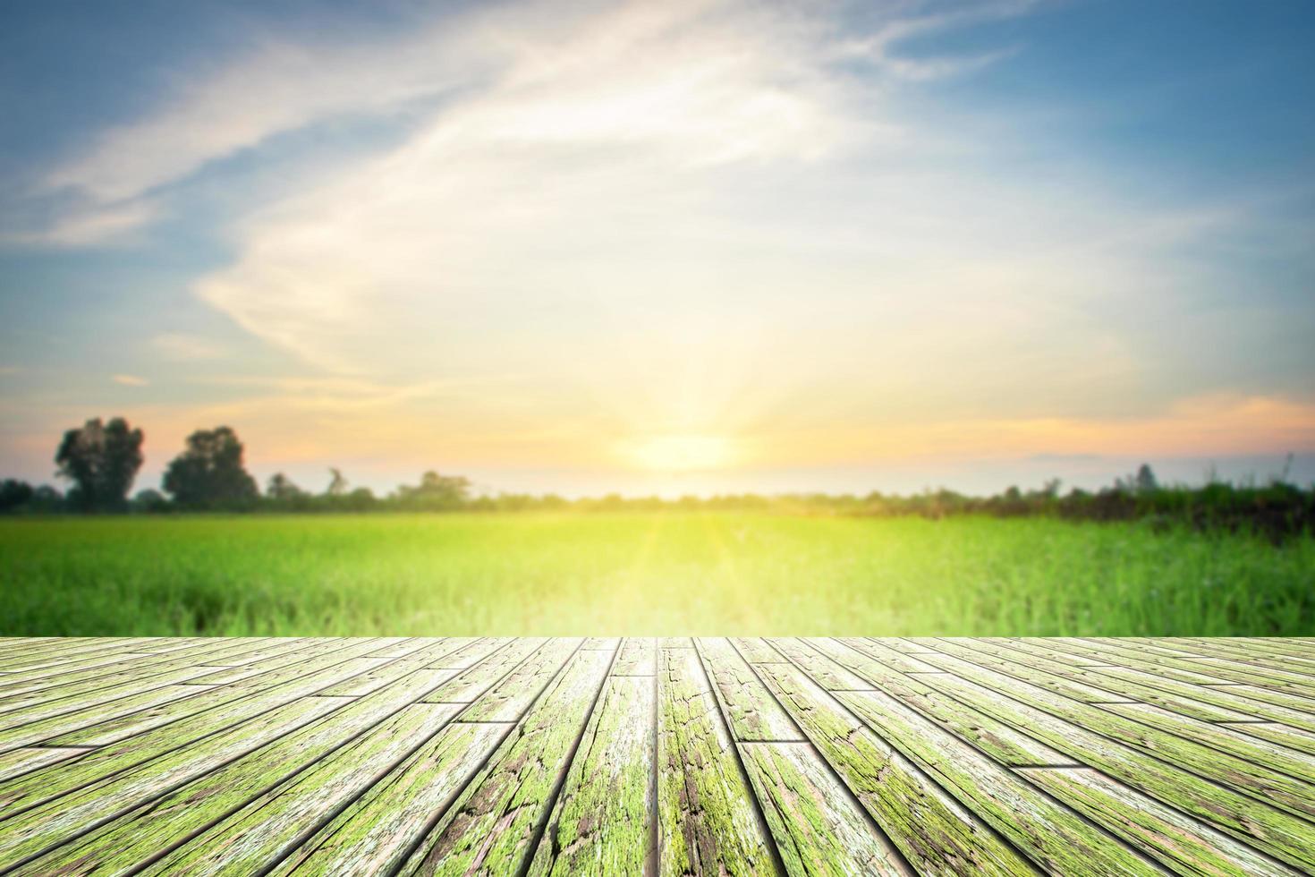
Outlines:
[[614,657],[575,652],[400,873],[504,874],[523,866]]

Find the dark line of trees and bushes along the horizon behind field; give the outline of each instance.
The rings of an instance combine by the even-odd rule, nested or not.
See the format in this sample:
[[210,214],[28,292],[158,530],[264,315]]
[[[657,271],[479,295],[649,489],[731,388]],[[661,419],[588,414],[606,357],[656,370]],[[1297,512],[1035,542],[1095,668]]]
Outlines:
[[989,497],[953,490],[924,490],[911,496],[871,492],[857,494],[752,493],[713,497],[604,497],[567,500],[556,494],[500,493],[475,496],[462,476],[425,472],[416,485],[401,485],[387,496],[370,488],[352,489],[343,473],[329,469],[321,493],[297,486],[276,473],[262,492],[246,471],[245,447],[227,426],[197,430],[170,462],[162,490],[145,489],[129,498],[142,465],[141,429],[124,418],[100,418],[64,433],[55,451],[57,476],[70,486],[33,486],[8,479],[0,483],[0,513],[162,513],[162,511],[661,511],[761,510],[792,514],[864,517],[919,515],[940,519],[981,514],[998,518],[1056,517],[1076,521],[1144,519],[1152,526],[1187,525],[1202,530],[1255,530],[1273,539],[1310,533],[1315,525],[1315,486],[1289,480],[1283,472],[1264,484],[1232,484],[1210,476],[1202,486],[1161,485],[1149,465],[1099,490],[1060,490],[1060,481],[1040,489],[1011,486]]

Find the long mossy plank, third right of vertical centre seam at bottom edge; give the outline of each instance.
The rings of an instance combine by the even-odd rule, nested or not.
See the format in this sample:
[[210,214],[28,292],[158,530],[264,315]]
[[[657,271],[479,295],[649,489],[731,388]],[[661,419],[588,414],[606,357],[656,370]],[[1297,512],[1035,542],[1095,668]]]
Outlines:
[[764,664],[761,672],[809,742],[919,873],[1035,873],[977,817],[798,667]]

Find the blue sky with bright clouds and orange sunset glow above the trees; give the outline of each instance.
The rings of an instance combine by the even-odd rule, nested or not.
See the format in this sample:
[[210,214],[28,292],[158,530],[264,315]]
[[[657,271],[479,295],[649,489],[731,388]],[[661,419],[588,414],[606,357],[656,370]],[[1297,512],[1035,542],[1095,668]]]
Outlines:
[[0,475],[1315,480],[1304,0],[13,0]]

